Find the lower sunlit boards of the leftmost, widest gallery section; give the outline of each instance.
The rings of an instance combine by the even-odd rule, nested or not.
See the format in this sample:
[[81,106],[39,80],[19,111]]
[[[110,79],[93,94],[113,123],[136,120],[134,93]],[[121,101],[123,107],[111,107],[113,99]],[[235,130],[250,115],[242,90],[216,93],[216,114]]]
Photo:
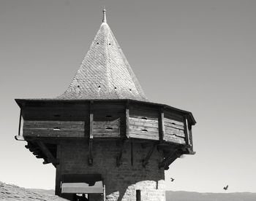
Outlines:
[[83,137],[84,122],[24,121],[24,136]]

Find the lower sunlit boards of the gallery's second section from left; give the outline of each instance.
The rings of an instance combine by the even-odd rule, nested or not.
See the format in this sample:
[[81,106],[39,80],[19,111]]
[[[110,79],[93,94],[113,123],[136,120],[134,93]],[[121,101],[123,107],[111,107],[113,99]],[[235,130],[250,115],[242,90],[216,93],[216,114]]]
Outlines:
[[93,122],[94,138],[118,138],[120,136],[120,119],[105,122]]

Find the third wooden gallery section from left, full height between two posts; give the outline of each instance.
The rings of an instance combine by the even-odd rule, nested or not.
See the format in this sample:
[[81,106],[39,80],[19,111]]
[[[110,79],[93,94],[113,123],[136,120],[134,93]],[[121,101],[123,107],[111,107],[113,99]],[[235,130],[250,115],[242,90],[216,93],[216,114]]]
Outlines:
[[158,109],[131,106],[129,109],[129,137],[159,140]]

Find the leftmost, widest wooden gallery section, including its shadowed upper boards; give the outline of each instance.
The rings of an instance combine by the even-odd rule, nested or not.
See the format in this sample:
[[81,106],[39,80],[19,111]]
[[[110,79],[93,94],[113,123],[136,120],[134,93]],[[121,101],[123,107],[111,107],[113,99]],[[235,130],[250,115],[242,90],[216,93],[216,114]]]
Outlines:
[[89,136],[89,104],[26,106],[23,135],[42,137]]

